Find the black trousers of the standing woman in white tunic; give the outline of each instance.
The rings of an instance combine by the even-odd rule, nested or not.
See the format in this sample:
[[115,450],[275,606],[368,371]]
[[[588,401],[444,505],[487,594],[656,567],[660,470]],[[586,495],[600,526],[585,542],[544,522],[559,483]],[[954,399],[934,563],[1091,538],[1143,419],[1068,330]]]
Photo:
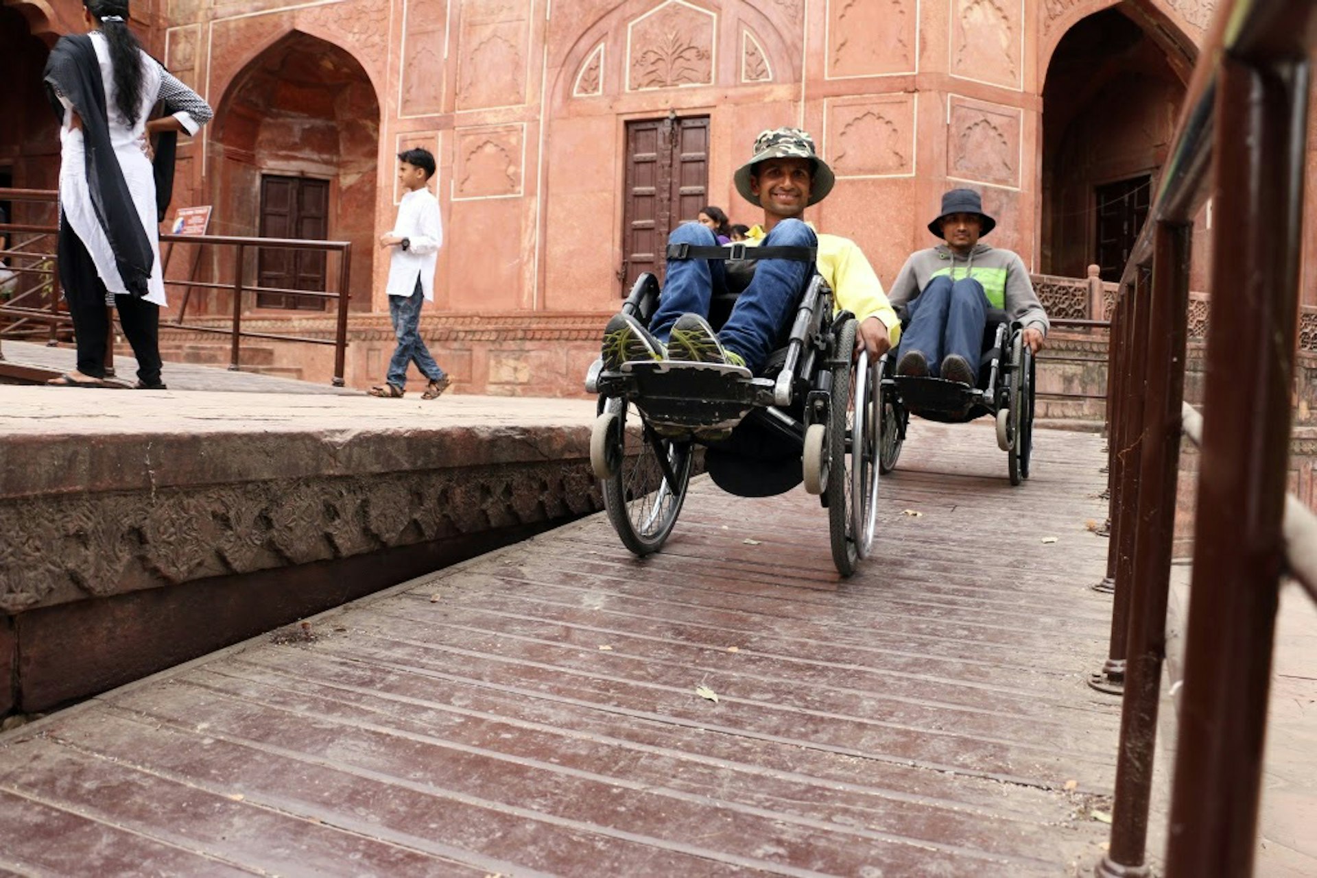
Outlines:
[[[68,303],[68,316],[74,321],[74,341],[78,345],[78,371],[92,378],[105,376],[105,351],[109,340],[109,309],[105,305],[105,284],[96,272],[96,263],[87,253],[82,238],[61,217],[59,284]],[[159,305],[134,296],[115,296],[119,325],[133,346],[137,358],[137,378],[148,387],[161,383]]]

